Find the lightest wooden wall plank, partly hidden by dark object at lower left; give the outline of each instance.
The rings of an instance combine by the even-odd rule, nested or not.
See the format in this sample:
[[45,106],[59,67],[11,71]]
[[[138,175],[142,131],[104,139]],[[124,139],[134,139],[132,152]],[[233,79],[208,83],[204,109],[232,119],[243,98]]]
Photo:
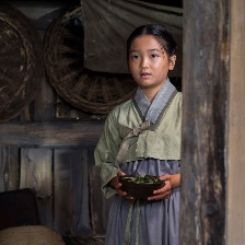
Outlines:
[[52,150],[21,149],[20,188],[36,191],[40,223],[52,228]]

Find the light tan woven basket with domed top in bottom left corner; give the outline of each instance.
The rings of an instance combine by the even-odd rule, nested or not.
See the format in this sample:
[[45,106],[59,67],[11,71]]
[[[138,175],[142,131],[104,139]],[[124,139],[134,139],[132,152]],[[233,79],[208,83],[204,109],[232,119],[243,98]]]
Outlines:
[[1,245],[66,245],[62,237],[44,225],[8,228],[0,231]]

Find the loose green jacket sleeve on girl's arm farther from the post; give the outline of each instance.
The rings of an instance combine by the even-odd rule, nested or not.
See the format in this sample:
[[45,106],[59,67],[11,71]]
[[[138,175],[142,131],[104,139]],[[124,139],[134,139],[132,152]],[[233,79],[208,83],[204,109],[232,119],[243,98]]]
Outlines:
[[117,175],[119,167],[115,165],[115,159],[121,139],[115,114],[109,114],[103,133],[94,151],[95,165],[101,168],[102,190],[106,198],[116,194],[116,190],[108,186],[112,178]]

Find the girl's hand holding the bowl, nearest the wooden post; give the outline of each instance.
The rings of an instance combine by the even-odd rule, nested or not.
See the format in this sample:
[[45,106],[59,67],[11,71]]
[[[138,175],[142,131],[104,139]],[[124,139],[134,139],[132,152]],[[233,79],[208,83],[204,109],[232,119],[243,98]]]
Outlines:
[[158,190],[154,190],[154,196],[149,197],[148,200],[161,200],[166,199],[171,195],[171,189],[180,185],[180,174],[170,175],[164,174],[159,177],[160,180],[164,182],[164,186]]

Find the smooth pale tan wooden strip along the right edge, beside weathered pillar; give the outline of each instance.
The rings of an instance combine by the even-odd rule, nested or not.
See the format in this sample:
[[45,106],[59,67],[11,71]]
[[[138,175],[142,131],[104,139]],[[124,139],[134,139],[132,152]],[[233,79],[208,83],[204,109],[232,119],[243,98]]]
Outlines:
[[228,122],[228,240],[245,244],[245,1],[231,1],[231,73]]

